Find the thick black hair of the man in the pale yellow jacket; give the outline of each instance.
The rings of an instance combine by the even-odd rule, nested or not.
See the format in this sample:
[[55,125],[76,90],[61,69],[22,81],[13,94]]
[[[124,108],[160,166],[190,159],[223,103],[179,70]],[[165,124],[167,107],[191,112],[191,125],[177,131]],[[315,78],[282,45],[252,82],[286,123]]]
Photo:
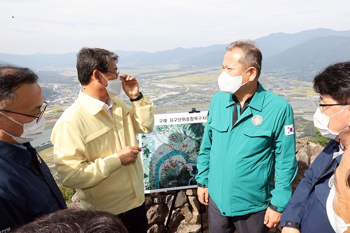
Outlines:
[[99,48],[84,47],[77,54],[76,68],[80,84],[88,85],[90,77],[95,69],[107,71],[110,60],[118,62],[118,55],[114,52]]

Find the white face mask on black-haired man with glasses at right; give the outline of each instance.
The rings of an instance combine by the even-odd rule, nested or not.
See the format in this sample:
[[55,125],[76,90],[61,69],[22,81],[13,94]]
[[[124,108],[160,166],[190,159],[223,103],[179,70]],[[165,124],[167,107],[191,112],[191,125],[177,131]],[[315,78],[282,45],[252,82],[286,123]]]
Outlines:
[[[346,108],[341,110],[339,113],[343,112]],[[333,116],[338,115],[339,113],[334,114]],[[349,126],[347,126],[344,130],[339,131],[338,133],[332,132],[328,128],[328,124],[330,121],[330,118],[333,116],[327,116],[321,112],[320,107],[316,109],[315,115],[314,115],[314,126],[318,129],[318,131],[322,134],[322,136],[334,139],[339,133],[343,132],[344,130],[348,129]]]

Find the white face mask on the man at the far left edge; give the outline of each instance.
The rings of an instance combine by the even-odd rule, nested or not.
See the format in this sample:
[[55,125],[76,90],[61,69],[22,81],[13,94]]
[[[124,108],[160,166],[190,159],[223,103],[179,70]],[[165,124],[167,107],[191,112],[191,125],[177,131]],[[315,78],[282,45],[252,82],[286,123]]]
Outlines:
[[[6,116],[5,114],[1,113],[3,116]],[[6,116],[12,121],[15,121],[16,123],[23,125],[23,133],[19,136],[16,137],[14,135],[11,135],[10,133],[5,132],[4,130],[1,130],[2,132],[6,133],[7,135],[11,136],[14,140],[16,140],[18,143],[26,143],[26,142],[31,142],[35,140],[41,133],[44,132],[45,128],[45,118],[42,116],[40,120],[36,123],[36,118],[29,123],[24,123],[21,124],[18,121]]]

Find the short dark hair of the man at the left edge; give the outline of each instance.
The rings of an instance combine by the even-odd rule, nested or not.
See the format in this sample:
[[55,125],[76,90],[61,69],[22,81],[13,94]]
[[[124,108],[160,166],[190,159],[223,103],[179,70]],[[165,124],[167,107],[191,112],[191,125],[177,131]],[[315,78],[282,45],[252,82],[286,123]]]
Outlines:
[[36,83],[37,75],[29,68],[0,65],[0,107],[7,108],[15,91],[23,84]]

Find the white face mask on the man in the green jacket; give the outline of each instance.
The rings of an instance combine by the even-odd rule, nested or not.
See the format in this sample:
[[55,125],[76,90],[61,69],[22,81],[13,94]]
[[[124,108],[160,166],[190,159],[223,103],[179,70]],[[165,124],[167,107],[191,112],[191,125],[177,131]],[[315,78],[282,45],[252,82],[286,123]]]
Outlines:
[[[234,94],[241,86],[243,86],[245,83],[242,84],[243,75],[248,71],[248,69],[239,76],[232,77],[229,74],[227,74],[225,71],[223,71],[218,78],[218,85],[220,88],[220,91]],[[246,82],[249,83],[249,80]]]

